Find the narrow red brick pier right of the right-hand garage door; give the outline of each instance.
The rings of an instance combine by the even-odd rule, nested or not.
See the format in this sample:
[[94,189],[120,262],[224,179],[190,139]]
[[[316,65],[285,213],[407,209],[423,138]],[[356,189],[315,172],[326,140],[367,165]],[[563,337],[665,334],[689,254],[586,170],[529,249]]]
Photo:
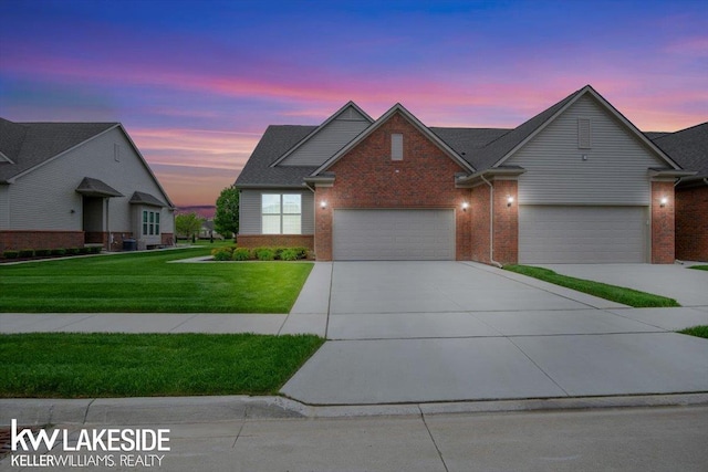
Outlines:
[[[662,207],[662,198],[667,198]],[[652,182],[652,263],[673,264],[675,260],[674,182]]]

